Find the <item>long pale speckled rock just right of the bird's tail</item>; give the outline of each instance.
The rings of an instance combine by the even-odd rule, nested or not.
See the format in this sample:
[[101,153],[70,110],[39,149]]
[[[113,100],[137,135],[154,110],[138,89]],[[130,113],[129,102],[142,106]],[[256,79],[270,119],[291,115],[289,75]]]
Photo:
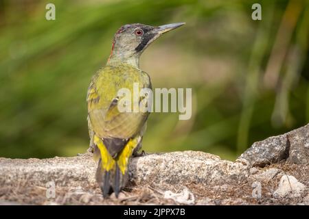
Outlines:
[[[184,165],[185,164],[185,165]],[[199,151],[152,154],[131,162],[131,179],[138,184],[161,187],[202,183],[207,186],[238,183],[248,177],[248,168]],[[194,171],[192,171],[194,170]]]

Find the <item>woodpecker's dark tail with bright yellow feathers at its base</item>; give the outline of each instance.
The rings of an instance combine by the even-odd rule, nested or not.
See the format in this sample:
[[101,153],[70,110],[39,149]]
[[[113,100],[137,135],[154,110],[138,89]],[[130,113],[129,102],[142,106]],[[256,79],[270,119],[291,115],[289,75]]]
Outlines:
[[98,162],[96,178],[102,194],[106,197],[113,189],[117,197],[128,182],[128,163],[133,150],[139,142],[139,138],[129,140],[126,146],[124,146],[124,149],[115,158],[111,157],[100,138],[95,137],[94,141],[101,155]]

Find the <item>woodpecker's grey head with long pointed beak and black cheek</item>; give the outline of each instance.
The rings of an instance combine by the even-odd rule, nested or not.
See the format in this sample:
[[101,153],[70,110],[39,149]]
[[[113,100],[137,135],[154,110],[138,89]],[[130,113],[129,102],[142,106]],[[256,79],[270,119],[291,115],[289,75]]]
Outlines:
[[139,66],[139,56],[162,34],[181,27],[185,23],[172,23],[152,27],[139,23],[124,25],[118,29],[113,40],[113,47],[108,63],[126,62]]

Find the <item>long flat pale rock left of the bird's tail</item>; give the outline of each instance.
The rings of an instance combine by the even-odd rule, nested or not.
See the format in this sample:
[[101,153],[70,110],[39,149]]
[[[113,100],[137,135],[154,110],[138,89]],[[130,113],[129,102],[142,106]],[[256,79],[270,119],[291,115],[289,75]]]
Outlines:
[[51,159],[0,158],[0,185],[85,188],[96,185],[95,166],[89,153]]

